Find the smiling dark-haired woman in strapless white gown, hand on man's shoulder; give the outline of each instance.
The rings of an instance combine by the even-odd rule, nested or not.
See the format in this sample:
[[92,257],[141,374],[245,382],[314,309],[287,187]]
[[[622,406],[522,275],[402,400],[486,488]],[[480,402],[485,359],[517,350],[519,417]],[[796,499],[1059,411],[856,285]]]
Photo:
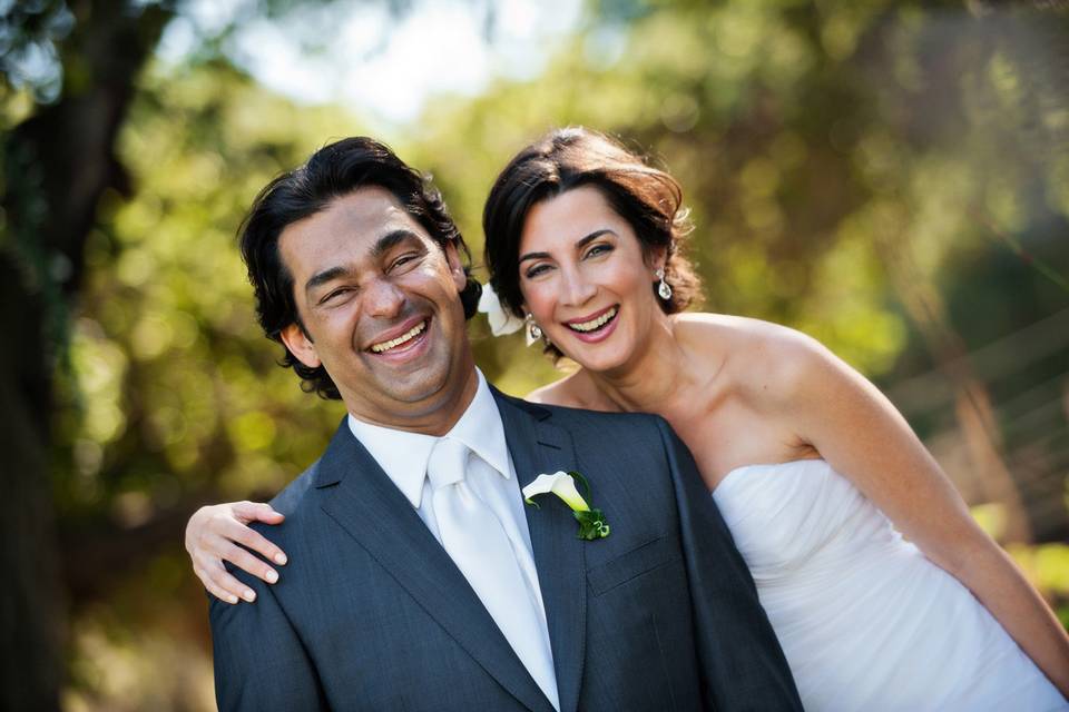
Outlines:
[[[806,708],[1069,708],[1069,637],[890,402],[796,332],[681,313],[697,280],[680,207],[670,176],[585,129],[506,167],[483,215],[491,284],[547,353],[580,366],[530,399],[673,425]],[[227,541],[279,554],[242,526],[273,521],[265,506],[190,520],[198,575],[232,602],[244,587],[220,556],[272,580]]]

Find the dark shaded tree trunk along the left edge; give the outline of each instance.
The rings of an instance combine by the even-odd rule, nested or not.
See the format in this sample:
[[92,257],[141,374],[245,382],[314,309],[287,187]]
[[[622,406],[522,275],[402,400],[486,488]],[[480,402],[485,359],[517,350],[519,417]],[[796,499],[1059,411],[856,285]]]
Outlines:
[[0,240],[0,428],[4,515],[0,571],[0,709],[55,710],[65,605],[48,453],[52,372],[100,197],[127,192],[115,158],[135,81],[173,10],[101,0],[68,3],[63,91],[3,142]]

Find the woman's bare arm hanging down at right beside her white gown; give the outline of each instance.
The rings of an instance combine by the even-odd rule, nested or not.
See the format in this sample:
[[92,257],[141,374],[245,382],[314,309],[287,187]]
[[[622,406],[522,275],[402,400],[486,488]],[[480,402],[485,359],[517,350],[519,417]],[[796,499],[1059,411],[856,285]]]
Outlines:
[[1069,636],[880,390],[808,337],[787,337],[782,393],[790,425],[964,584],[1069,698]]

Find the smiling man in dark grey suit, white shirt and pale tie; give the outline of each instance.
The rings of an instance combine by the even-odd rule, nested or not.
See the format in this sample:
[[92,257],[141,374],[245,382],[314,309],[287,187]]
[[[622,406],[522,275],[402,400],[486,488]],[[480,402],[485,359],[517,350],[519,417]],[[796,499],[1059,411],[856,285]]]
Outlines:
[[[437,191],[366,138],[257,197],[261,325],[349,411],[272,503],[290,553],[256,605],[214,600],[222,710],[801,709],[744,562],[664,421],[490,387],[478,284]],[[540,473],[578,471],[609,535]]]

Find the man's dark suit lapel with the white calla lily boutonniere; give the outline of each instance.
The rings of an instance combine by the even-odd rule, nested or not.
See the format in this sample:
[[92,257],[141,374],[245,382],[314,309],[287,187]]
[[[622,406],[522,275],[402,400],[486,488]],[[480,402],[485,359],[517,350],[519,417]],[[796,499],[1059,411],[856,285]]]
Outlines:
[[[521,487],[541,473],[576,468],[571,437],[547,422],[549,411],[509,398],[496,388],[493,395],[504,422],[506,439]],[[583,542],[576,536],[578,524],[562,502],[543,497],[539,508],[527,506],[526,512],[539,587],[546,604],[560,709],[561,712],[571,712],[579,702],[586,645]]]

